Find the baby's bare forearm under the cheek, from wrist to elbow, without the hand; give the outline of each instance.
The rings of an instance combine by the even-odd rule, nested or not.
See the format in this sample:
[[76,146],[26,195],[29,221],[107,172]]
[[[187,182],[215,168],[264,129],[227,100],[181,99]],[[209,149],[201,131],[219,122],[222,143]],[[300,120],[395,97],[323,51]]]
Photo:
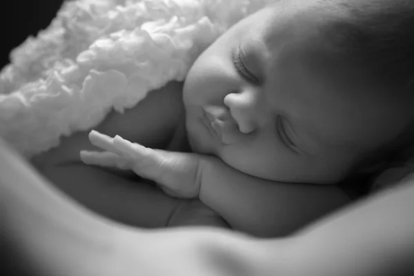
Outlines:
[[262,237],[292,233],[350,201],[337,186],[259,179],[213,157],[199,164],[201,201],[234,228]]

